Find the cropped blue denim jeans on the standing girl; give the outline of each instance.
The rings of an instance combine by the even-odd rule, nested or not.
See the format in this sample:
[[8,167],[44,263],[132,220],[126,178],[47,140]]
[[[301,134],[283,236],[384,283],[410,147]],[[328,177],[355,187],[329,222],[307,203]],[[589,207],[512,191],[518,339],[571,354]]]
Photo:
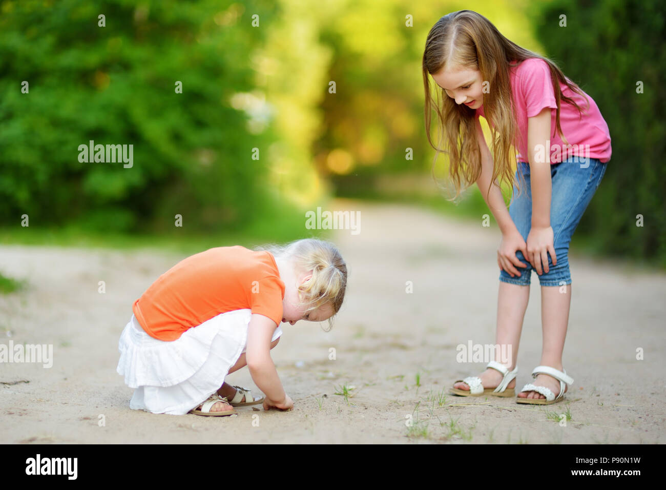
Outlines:
[[[548,253],[548,272],[539,275],[539,283],[542,286],[561,286],[571,284],[569,273],[569,241],[573,231],[576,229],[583,212],[592,200],[592,196],[601,183],[601,178],[606,172],[607,163],[601,163],[598,159],[590,158],[587,161],[577,160],[571,157],[561,163],[551,165],[550,175],[552,181],[552,193],[550,204],[550,225],[553,228],[553,247],[557,256],[557,265],[553,266],[553,260]],[[513,187],[513,199],[509,205],[509,215],[517,227],[523,240],[527,241],[527,235],[531,228],[532,220],[532,193],[529,180],[529,163],[518,162],[515,178],[519,181],[519,173],[525,179],[525,185],[521,187],[521,194]],[[520,275],[511,277],[509,273],[502,270],[500,281],[517,285],[529,285],[533,267],[525,259],[521,251],[516,251],[519,261],[527,264],[527,267],[516,267]]]

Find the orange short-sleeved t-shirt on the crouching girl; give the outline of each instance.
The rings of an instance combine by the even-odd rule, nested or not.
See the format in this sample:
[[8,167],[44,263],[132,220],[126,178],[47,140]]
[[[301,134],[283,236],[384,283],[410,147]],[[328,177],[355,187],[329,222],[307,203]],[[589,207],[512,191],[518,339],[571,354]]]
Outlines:
[[187,257],[168,269],[132,306],[141,327],[172,341],[191,327],[237,309],[282,322],[284,283],[273,255],[235,245]]

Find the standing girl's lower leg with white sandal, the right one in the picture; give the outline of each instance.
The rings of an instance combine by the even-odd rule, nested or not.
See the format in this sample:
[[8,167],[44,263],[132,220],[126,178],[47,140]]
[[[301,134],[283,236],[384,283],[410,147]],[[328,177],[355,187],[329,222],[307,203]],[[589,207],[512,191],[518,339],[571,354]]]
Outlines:
[[[560,291],[559,286],[541,286],[542,366],[562,370],[562,351],[564,350],[564,339],[567,336],[567,325],[569,325],[570,306],[571,284],[566,286],[565,292]],[[555,393],[555,396],[559,393],[559,381],[549,375],[539,374],[532,383],[549,388]],[[518,393],[518,396],[521,398],[545,398],[536,391],[523,391]]]

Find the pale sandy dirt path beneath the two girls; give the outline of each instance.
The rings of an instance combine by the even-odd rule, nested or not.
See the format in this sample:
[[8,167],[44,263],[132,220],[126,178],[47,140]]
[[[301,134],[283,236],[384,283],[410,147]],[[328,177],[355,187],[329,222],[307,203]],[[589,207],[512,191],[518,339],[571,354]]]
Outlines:
[[[272,355],[294,399],[288,413],[129,409],[132,390],[115,371],[119,335],[133,301],[184,256],[1,246],[0,270],[29,287],[0,296],[0,344],[52,344],[53,367],[0,363],[0,442],[666,442],[666,275],[572,254],[567,403],[456,397],[452,382],[484,369],[458,363],[456,346],[494,343],[498,229],[402,205],[336,201],[331,209],[360,212],[360,233],[338,230],[333,239],[348,262],[348,292],[329,333],[303,321],[283,326]],[[539,363],[540,302],[534,273],[518,388]],[[246,369],[228,381],[256,389]],[[334,394],[341,385],[353,387],[347,399]]]

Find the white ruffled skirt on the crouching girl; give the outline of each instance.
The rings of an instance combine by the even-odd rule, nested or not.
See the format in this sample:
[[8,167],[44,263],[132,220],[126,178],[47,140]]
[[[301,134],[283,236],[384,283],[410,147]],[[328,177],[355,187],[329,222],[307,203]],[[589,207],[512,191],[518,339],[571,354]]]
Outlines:
[[[220,313],[182,333],[174,341],[148,335],[135,315],[125,326],[118,348],[117,372],[135,388],[129,407],[152,413],[184,415],[215,393],[245,351],[249,309]],[[278,326],[272,341],[282,335]]]

